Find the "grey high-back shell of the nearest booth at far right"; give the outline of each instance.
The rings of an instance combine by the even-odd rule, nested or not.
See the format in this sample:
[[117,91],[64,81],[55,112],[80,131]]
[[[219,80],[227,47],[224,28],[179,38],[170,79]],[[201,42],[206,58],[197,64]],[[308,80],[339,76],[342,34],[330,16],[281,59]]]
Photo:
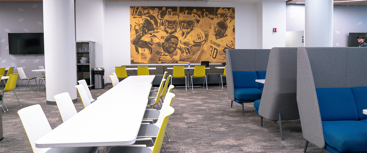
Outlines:
[[302,134],[306,142],[324,148],[316,88],[367,86],[367,47],[299,47],[297,54],[297,103]]

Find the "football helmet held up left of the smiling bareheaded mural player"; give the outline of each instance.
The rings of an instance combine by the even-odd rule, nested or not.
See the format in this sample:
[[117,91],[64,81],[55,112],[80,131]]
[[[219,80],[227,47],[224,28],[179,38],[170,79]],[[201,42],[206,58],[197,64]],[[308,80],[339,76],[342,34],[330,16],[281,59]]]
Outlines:
[[147,14],[139,23],[139,33],[146,34],[149,31],[160,30],[161,20],[154,14]]

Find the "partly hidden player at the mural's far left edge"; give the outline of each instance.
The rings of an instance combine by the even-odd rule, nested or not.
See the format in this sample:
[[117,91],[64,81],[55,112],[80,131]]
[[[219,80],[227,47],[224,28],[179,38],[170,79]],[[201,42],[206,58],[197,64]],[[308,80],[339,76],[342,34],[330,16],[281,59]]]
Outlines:
[[[130,38],[139,33],[139,23],[143,16],[143,9],[141,7],[135,6],[131,7],[131,19],[130,19]],[[142,49],[130,44],[131,51],[131,63],[141,63],[141,53]]]

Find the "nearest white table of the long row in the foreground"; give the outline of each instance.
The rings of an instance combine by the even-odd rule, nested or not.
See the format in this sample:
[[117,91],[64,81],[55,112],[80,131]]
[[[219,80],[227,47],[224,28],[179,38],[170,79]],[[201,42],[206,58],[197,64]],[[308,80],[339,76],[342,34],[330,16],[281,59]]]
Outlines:
[[51,132],[36,147],[91,147],[135,143],[147,98],[96,100]]

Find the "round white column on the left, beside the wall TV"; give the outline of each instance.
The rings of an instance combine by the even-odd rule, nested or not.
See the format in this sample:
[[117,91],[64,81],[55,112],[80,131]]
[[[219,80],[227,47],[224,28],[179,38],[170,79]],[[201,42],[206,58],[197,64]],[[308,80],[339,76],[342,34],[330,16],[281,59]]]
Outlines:
[[74,0],[43,0],[47,104],[54,96],[69,92],[76,100],[76,52]]

